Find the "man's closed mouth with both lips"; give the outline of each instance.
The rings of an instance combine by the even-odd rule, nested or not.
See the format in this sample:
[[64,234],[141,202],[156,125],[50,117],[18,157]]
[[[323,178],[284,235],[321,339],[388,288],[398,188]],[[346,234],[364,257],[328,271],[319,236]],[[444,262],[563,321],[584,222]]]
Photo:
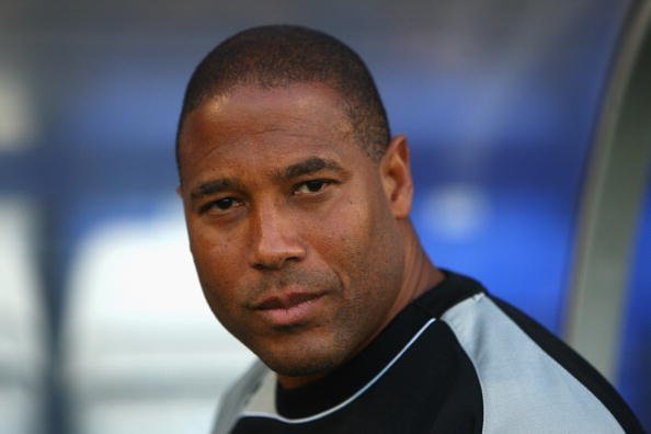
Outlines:
[[285,293],[267,297],[253,308],[272,326],[297,326],[316,313],[319,301],[324,296],[326,293]]

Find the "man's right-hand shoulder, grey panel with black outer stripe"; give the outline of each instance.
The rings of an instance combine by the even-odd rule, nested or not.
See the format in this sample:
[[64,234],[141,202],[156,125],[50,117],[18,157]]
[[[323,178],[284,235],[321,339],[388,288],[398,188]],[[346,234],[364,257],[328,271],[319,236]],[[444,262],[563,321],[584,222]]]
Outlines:
[[587,362],[513,306],[475,292],[441,320],[476,370],[484,432],[641,432],[623,399]]

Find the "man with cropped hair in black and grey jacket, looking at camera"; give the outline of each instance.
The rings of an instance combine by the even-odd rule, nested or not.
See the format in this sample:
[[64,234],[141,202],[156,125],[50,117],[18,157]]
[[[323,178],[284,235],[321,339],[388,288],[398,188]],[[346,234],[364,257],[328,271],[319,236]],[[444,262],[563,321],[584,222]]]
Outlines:
[[176,141],[206,300],[261,361],[216,433],[641,431],[569,347],[427,259],[407,139],[342,43],[232,36],[192,76]]

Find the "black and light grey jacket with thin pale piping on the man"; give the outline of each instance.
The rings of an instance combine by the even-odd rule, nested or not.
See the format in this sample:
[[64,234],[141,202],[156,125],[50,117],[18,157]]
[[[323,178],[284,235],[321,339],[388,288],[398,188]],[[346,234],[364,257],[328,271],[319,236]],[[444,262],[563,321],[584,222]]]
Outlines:
[[361,354],[284,390],[261,363],[227,392],[225,433],[641,433],[613,387],[540,324],[447,278]]

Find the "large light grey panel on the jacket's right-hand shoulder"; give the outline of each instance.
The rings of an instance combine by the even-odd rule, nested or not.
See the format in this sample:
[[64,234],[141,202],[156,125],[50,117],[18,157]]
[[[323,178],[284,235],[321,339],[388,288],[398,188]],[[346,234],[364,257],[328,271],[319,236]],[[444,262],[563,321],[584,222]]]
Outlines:
[[623,433],[585,386],[483,294],[449,309],[453,329],[477,370],[483,433]]

